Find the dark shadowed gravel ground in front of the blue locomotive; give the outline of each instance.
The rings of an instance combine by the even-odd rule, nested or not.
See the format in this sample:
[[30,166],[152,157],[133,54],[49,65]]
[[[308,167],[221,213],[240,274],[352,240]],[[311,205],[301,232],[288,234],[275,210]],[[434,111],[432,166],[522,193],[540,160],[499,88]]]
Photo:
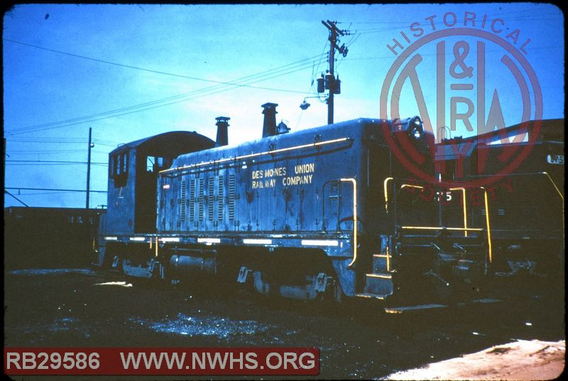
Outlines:
[[236,284],[210,287],[155,287],[92,269],[6,272],[4,345],[317,347],[320,378],[378,379],[519,339],[565,338],[564,300],[552,296],[391,315],[368,304],[314,306]]

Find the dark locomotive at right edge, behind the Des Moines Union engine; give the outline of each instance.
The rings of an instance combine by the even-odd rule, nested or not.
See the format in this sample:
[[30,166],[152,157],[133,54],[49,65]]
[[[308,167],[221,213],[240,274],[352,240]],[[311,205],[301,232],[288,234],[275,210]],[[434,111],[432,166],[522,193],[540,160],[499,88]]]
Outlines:
[[[528,139],[534,124],[537,139]],[[523,150],[528,155],[503,173]],[[518,124],[437,145],[436,170],[447,181],[490,179],[489,215],[482,203],[468,200],[469,221],[491,221],[493,271],[503,277],[532,274],[564,277],[564,119]]]

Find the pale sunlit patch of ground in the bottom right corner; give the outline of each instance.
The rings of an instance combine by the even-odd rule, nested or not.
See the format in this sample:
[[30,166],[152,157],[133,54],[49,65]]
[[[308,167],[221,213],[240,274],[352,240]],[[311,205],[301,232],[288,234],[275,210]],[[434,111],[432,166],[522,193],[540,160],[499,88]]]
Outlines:
[[564,371],[565,354],[565,340],[518,340],[396,372],[386,380],[554,380]]

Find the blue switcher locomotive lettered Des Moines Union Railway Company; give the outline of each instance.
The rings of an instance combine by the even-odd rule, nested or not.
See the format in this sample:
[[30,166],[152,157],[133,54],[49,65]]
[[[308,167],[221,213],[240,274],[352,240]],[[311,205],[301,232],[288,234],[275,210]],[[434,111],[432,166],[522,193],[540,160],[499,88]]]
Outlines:
[[[470,190],[417,181],[386,142],[390,134],[432,158],[419,117],[288,133],[276,106],[263,104],[262,139],[238,146],[218,117],[216,142],[170,132],[112,151],[98,264],[305,300],[479,295],[492,261],[488,221],[472,225],[465,203],[455,218],[420,196],[431,188],[434,200],[462,200]],[[433,159],[420,166],[434,173]]]

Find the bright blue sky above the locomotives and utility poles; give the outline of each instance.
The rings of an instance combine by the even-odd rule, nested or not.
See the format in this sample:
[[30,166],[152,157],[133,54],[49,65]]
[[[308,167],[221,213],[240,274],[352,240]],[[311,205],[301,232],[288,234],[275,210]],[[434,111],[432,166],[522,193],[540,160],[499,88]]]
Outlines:
[[[265,102],[279,104],[278,122],[293,131],[326,124],[322,100],[308,98],[311,107],[299,107],[315,96],[311,81],[327,68],[322,20],[351,31],[341,38],[348,55],[337,55],[342,94],[335,97],[335,121],[378,117],[381,87],[396,58],[387,45],[403,41],[400,31],[410,36],[415,22],[431,33],[430,16],[437,30],[449,28],[447,12],[457,15],[457,25],[465,12],[475,13],[476,28],[483,15],[487,22],[501,19],[503,31],[493,34],[505,38],[518,29],[518,42],[509,38],[517,50],[530,39],[523,55],[542,88],[543,117],[564,117],[564,15],[550,4],[18,5],[4,14],[6,187],[84,189],[89,127],[91,189],[104,191],[108,153],[117,144],[172,130],[214,139],[214,118],[221,115],[231,117],[231,144],[257,139]],[[435,51],[435,45],[422,49],[424,65],[417,68],[429,108],[436,93],[427,82],[435,73],[428,58]],[[486,79],[498,89],[510,125],[519,122],[522,107],[512,77],[503,75],[502,55],[487,44]],[[223,84],[231,81],[239,86]],[[414,99],[406,83],[402,117],[417,114]],[[452,134],[471,133],[459,124]],[[10,192],[31,206],[84,207],[84,193]],[[106,203],[106,195],[92,193],[92,207]],[[4,205],[21,204],[6,195]]]

